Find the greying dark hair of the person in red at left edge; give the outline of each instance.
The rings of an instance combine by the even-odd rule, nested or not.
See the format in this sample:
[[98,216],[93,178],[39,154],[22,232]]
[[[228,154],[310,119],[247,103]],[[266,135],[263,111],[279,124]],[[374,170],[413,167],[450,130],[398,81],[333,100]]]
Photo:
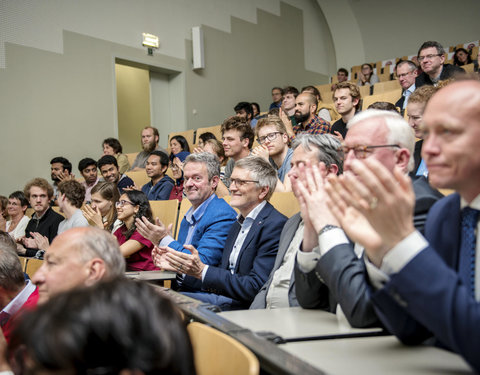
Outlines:
[[17,292],[24,285],[25,277],[17,255],[17,245],[7,232],[0,231],[0,287]]

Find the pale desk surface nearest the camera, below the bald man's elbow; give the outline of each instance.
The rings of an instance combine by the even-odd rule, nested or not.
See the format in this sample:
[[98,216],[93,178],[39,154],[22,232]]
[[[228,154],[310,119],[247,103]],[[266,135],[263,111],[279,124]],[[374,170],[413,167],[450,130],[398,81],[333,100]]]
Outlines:
[[428,346],[404,346],[393,336],[304,341],[278,347],[332,375],[473,373],[456,354]]

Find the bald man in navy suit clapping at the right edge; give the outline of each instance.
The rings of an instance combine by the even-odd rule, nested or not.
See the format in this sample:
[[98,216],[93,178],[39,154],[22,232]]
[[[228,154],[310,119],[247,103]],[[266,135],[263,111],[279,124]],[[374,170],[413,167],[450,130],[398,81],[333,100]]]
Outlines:
[[374,230],[358,231],[357,240],[371,262],[372,301],[385,326],[408,344],[434,336],[480,371],[480,82],[441,89],[423,119],[430,181],[456,190],[432,208],[425,238],[411,223],[413,194],[405,177],[381,165],[356,163],[355,200],[347,194],[345,201]]

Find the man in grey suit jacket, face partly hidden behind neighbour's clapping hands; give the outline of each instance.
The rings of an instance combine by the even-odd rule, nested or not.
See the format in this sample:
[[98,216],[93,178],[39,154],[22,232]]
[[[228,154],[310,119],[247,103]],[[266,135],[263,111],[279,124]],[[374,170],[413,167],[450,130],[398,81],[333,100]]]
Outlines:
[[[292,168],[288,173],[292,182],[299,178],[300,170],[307,161],[312,165],[318,165],[324,177],[330,173],[342,173],[341,144],[332,135],[301,134],[293,142],[292,148],[294,150]],[[292,186],[296,184],[292,183]],[[293,193],[297,196],[298,191],[294,188]],[[283,227],[272,272],[255,296],[251,309],[298,306],[293,269],[303,239],[303,231],[304,222],[300,213],[297,213]]]

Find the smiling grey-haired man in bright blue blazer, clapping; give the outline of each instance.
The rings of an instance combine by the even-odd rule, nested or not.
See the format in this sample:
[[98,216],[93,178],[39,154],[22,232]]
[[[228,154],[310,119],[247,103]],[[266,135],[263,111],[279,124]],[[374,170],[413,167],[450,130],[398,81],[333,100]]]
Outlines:
[[217,265],[222,259],[225,240],[236,213],[223,199],[215,195],[220,180],[218,159],[209,153],[190,154],[183,167],[184,190],[192,207],[180,224],[178,240],[170,234],[170,228],[156,220],[137,219],[137,230],[152,243],[169,246],[180,252],[189,253],[185,245],[194,246],[203,263]]

